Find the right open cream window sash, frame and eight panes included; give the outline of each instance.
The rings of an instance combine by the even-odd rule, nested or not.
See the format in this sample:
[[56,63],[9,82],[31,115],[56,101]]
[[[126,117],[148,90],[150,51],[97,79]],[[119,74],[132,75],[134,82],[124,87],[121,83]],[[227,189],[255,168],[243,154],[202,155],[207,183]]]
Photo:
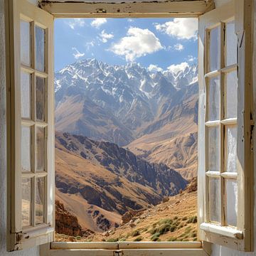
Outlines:
[[250,219],[245,218],[245,212],[250,198],[245,196],[245,186],[250,184],[244,177],[250,176],[250,155],[248,165],[243,161],[250,140],[243,129],[250,102],[241,100],[243,67],[238,63],[234,14],[231,2],[221,11],[200,17],[198,182],[203,184],[199,191],[203,201],[198,201],[198,215],[203,240],[247,250],[245,226],[250,225]]

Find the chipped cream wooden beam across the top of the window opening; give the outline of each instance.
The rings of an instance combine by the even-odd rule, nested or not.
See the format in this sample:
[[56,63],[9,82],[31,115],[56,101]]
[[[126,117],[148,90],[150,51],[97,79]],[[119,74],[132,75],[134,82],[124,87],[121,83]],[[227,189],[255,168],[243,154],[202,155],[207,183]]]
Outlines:
[[208,1],[142,1],[142,2],[65,2],[41,1],[41,8],[55,18],[156,18],[198,17],[214,9],[213,0]]

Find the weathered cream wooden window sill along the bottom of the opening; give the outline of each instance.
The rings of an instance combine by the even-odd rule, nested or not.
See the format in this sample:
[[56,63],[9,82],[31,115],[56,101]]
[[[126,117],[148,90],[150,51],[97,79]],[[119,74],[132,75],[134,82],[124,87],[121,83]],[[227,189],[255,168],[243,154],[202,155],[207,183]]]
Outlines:
[[51,242],[42,256],[207,256],[201,242]]

